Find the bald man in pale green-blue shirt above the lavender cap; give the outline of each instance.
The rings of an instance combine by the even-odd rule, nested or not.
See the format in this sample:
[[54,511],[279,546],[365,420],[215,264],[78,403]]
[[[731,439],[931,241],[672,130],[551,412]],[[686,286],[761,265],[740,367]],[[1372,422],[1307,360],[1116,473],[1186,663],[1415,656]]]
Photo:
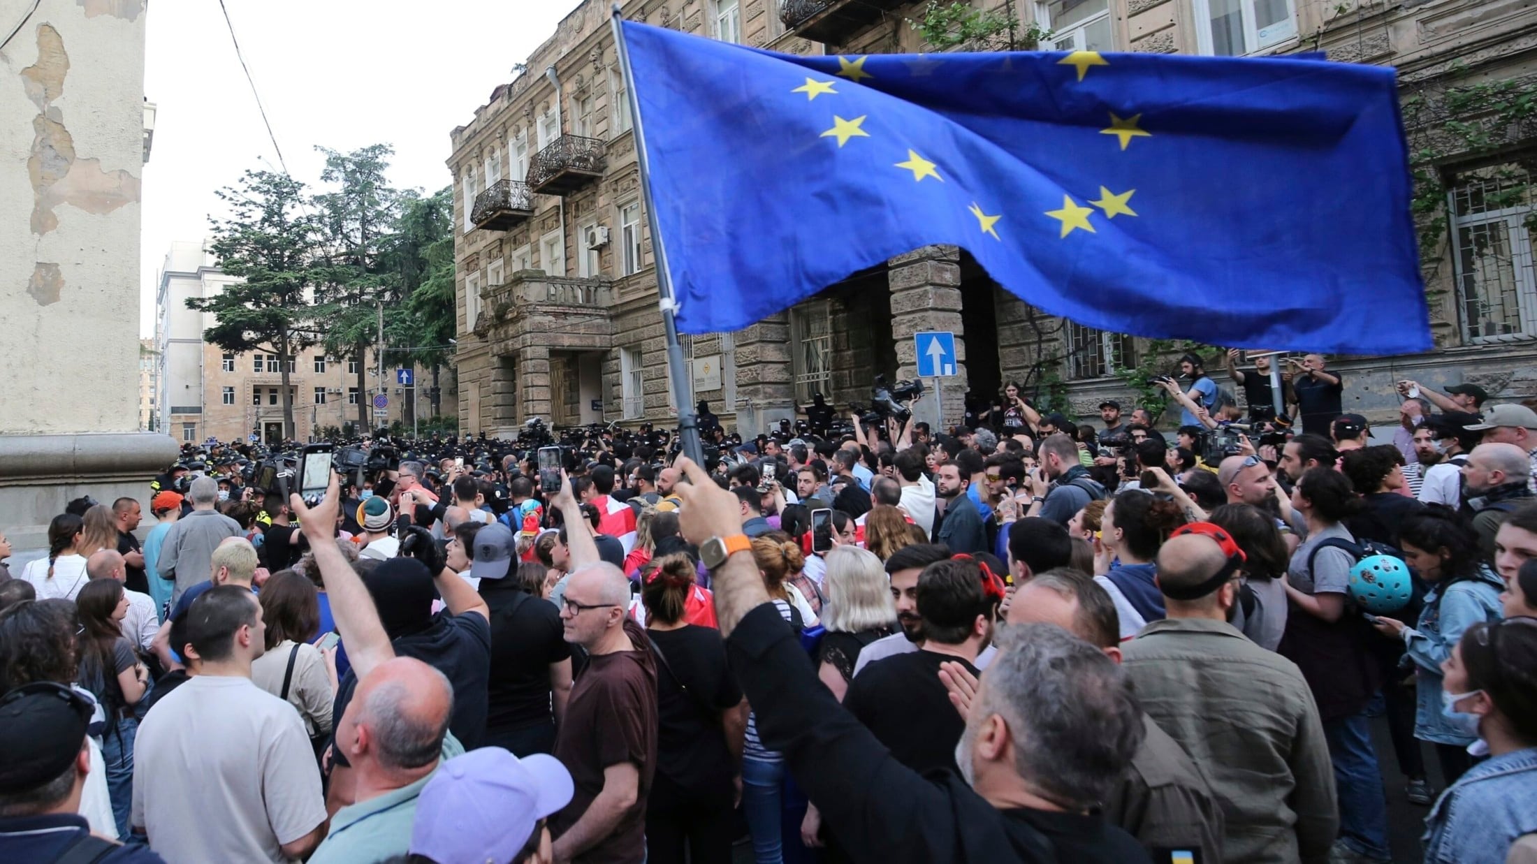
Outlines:
[[410,850],[417,796],[443,759],[464,752],[449,733],[453,687],[426,663],[397,656],[358,683],[337,724],[352,764],[354,803],[330,818],[312,864],[383,861]]

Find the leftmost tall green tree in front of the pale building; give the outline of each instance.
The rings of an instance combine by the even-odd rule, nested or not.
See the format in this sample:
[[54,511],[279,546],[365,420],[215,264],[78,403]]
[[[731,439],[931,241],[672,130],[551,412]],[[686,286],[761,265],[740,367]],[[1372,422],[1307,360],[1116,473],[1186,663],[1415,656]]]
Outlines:
[[283,435],[294,435],[289,364],[315,344],[314,289],[320,226],[304,212],[304,184],[284,174],[247,171],[237,186],[218,191],[231,215],[209,220],[220,269],[243,281],[188,307],[211,312],[203,338],[235,354],[277,355],[283,381]]

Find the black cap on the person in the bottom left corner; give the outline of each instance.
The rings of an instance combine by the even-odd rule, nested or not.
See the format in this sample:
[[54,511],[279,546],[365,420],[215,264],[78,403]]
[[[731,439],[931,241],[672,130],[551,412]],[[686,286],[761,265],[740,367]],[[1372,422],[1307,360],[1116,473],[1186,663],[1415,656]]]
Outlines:
[[0,698],[0,795],[29,792],[65,773],[91,726],[91,701],[63,684],[23,684]]

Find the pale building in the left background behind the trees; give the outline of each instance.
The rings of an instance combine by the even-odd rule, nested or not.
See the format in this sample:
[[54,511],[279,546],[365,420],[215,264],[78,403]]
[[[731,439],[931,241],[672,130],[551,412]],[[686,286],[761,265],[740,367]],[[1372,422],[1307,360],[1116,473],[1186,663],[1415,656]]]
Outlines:
[[[212,297],[237,277],[218,271],[204,243],[171,244],[160,271],[155,294],[155,423],[177,441],[218,438],[232,441],[258,435],[274,443],[283,438],[283,375],[277,355],[266,352],[227,352],[203,341],[203,331],[214,315],[188,309],[191,297]],[[358,403],[370,406],[377,395],[377,360],[370,354],[360,390],[355,360],[326,355],[324,347],[304,349],[289,364],[294,401],[294,438],[307,441],[334,426],[343,432],[358,423]],[[387,378],[397,371],[386,367]],[[458,410],[456,387],[447,369],[440,371],[441,412]],[[417,400],[418,420],[432,417],[430,371],[417,367],[415,387],[386,384],[386,407],[367,410],[369,426],[403,421],[410,427],[409,400]]]

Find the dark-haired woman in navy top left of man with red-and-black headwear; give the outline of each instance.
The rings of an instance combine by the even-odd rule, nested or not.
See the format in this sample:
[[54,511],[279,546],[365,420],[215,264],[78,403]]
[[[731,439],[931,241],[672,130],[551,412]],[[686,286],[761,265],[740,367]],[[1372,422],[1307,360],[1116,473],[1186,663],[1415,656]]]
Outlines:
[[1148,621],[1164,620],[1164,593],[1157,589],[1154,560],[1168,535],[1187,521],[1179,504],[1140,489],[1122,492],[1105,504],[1094,581],[1116,601],[1122,640],[1137,635]]

